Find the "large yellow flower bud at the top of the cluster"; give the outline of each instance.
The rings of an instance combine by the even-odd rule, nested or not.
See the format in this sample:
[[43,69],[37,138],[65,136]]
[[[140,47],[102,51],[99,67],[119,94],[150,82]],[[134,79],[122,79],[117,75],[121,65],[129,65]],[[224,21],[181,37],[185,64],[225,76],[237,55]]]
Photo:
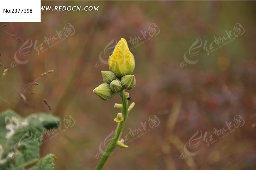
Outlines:
[[124,38],[117,43],[113,54],[109,57],[109,69],[118,78],[129,75],[135,68],[135,61]]

